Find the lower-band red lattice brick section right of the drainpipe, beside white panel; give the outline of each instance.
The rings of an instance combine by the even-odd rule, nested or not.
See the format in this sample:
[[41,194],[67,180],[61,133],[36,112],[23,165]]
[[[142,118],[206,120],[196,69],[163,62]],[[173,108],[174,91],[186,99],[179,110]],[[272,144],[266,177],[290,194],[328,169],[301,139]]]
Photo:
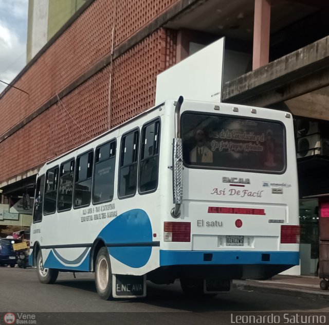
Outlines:
[[111,127],[154,106],[156,76],[175,58],[176,32],[161,29],[114,62]]

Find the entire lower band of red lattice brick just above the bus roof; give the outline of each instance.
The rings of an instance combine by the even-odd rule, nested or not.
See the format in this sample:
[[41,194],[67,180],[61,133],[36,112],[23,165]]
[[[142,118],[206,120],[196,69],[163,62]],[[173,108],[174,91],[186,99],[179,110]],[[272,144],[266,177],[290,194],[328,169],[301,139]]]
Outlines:
[[[0,182],[106,131],[109,112],[112,128],[153,106],[156,76],[173,65],[175,58],[176,32],[163,28],[155,31],[115,60],[112,68],[108,65],[25,127],[0,142]],[[108,105],[111,71],[111,103]],[[38,78],[44,74],[40,73]],[[58,74],[64,74],[64,71],[60,70]],[[57,91],[54,88],[54,94]],[[5,96],[7,100],[13,101],[14,96]],[[20,94],[21,101],[24,96]],[[2,105],[3,99],[0,100],[0,107]]]

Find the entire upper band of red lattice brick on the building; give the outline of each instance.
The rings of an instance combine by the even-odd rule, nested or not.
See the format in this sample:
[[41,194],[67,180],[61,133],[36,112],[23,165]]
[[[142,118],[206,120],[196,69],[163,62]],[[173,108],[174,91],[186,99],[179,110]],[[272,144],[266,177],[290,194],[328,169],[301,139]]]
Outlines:
[[[0,99],[0,135],[179,0],[96,0]],[[115,25],[114,25],[115,24]]]

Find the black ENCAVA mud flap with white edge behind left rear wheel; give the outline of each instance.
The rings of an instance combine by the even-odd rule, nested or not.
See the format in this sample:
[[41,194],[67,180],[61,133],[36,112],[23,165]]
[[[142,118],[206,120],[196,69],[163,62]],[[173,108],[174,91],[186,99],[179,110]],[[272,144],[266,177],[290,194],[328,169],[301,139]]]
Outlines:
[[113,274],[113,298],[139,298],[146,296],[146,276]]

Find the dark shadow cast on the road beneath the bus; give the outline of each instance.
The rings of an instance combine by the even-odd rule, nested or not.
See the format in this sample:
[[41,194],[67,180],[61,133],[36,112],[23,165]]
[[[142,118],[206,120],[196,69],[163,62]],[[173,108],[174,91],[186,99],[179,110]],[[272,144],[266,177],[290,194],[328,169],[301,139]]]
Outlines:
[[[97,293],[95,281],[87,279],[59,279],[56,285],[72,287],[78,290]],[[190,312],[271,312],[271,311],[315,311],[327,308],[326,301],[316,301],[310,306],[310,299],[285,296],[275,293],[259,293],[247,290],[231,290],[216,297],[187,297],[179,285],[179,281],[170,285],[155,285],[147,282],[147,297],[137,299],[117,299],[122,304],[147,304],[175,311]],[[109,302],[111,303],[111,302]]]

